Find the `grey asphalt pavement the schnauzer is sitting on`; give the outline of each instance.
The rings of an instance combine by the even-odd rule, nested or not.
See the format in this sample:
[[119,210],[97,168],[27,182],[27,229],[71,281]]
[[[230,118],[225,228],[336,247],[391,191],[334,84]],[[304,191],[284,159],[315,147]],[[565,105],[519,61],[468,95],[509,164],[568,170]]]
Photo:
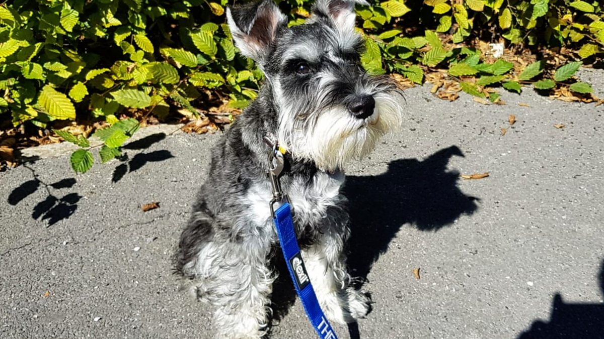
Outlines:
[[[581,77],[604,97],[604,71]],[[347,170],[350,267],[374,303],[339,337],[603,338],[604,105],[405,98],[402,129]],[[170,257],[220,133],[176,129],[86,174],[56,145],[0,173],[0,337],[213,336]],[[286,283],[272,338],[315,338]]]

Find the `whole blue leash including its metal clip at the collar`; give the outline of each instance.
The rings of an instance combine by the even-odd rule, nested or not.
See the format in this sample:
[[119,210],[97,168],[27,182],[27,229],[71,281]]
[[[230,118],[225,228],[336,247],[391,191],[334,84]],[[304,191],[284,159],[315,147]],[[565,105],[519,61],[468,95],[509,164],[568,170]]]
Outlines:
[[[302,306],[304,306],[304,311],[306,311],[306,315],[319,337],[323,339],[338,339],[332,325],[330,325],[325,314],[323,314],[321,305],[319,305],[319,301],[316,299],[315,290],[312,288],[312,284],[310,284],[310,279],[300,254],[300,247],[298,247],[289,198],[281,190],[279,176],[283,171],[285,162],[283,154],[286,151],[278,147],[276,140],[273,141],[268,137],[265,137],[264,140],[272,148],[268,156],[268,176],[271,179],[272,188],[272,199],[269,206],[272,218],[275,220],[275,229],[281,243],[281,250],[283,250],[283,258],[285,258],[285,262],[288,264],[289,275],[292,277],[292,282],[294,282],[296,293],[298,293]],[[283,204],[275,211],[274,205],[279,202],[283,202]]]

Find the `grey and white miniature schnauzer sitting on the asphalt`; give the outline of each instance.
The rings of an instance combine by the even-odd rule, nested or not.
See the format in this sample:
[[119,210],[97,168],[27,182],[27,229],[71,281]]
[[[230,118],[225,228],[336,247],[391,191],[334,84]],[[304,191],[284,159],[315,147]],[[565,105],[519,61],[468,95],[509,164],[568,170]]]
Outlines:
[[212,150],[175,269],[214,306],[217,337],[265,335],[280,254],[268,137],[286,150],[281,188],[321,308],[333,322],[355,322],[370,311],[370,299],[352,287],[345,262],[345,165],[400,125],[402,92],[390,77],[362,68],[355,2],[317,0],[309,19],[293,27],[270,0],[228,8],[226,17],[237,48],[265,80]]

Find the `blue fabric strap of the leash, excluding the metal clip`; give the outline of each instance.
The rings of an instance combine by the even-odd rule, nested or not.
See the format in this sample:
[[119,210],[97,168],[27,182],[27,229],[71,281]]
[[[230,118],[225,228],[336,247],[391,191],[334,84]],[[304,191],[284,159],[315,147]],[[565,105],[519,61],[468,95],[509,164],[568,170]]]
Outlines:
[[304,306],[304,311],[306,311],[310,323],[312,323],[320,338],[338,339],[332,325],[330,325],[325,314],[323,314],[319,301],[316,299],[315,290],[313,290],[312,284],[310,284],[306,267],[304,267],[304,261],[300,255],[300,247],[298,247],[289,203],[283,203],[275,211],[275,226],[277,226],[277,235],[281,243],[281,249],[283,250],[283,258],[285,258],[285,262],[288,264],[288,271],[294,282],[296,293],[298,293],[302,301],[302,306]]

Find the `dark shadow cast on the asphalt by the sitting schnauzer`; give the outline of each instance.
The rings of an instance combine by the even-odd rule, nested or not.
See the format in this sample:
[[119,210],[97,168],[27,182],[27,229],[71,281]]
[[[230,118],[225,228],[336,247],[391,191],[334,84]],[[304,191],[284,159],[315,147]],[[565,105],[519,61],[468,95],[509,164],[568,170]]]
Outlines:
[[[477,210],[478,198],[463,194],[457,187],[459,173],[447,169],[452,156],[463,157],[463,153],[451,146],[425,160],[393,160],[379,176],[347,176],[343,192],[349,199],[351,227],[347,264],[359,283],[367,280],[374,262],[404,224],[435,231]],[[276,268],[273,323],[288,313],[296,299],[287,268],[281,262]],[[359,337],[354,324],[349,332],[351,338]]]

